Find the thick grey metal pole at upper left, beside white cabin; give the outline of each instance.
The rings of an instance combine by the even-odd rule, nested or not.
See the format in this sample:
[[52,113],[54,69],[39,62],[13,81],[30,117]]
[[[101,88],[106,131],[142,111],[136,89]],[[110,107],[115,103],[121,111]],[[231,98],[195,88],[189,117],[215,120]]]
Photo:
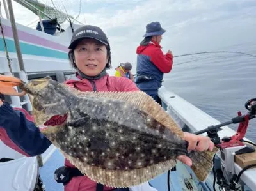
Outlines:
[[17,51],[17,57],[18,57],[18,61],[19,61],[20,70],[22,70],[26,73],[24,63],[23,63],[23,59],[22,59],[22,54],[21,54],[21,51],[20,51],[19,37],[18,37],[18,33],[17,33],[17,27],[16,27],[13,8],[12,8],[12,0],[8,0],[7,4],[8,4],[8,10],[9,10],[9,13],[10,13],[13,39],[14,39],[14,42],[15,42],[15,47],[16,47],[16,51]]

